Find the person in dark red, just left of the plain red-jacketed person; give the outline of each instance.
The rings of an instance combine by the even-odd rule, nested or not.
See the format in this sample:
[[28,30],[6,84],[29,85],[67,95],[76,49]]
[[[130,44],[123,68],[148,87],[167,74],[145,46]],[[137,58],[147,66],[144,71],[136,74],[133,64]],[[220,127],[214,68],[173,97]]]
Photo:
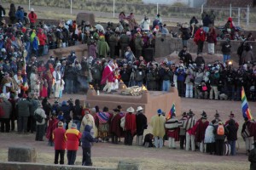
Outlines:
[[47,131],[46,131],[46,138],[48,139],[48,145],[49,146],[54,146],[53,131],[57,127],[58,127],[58,120],[56,119],[55,112],[53,112],[51,114],[50,119],[49,119],[49,126],[47,127]]

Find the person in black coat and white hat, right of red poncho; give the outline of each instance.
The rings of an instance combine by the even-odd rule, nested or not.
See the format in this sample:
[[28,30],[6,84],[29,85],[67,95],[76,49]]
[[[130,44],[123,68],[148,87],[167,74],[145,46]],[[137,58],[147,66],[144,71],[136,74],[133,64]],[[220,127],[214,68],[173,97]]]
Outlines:
[[143,114],[143,107],[137,107],[137,115],[136,115],[136,127],[137,127],[137,139],[136,144],[139,146],[143,145],[143,133],[144,129],[147,129],[148,124],[147,117]]

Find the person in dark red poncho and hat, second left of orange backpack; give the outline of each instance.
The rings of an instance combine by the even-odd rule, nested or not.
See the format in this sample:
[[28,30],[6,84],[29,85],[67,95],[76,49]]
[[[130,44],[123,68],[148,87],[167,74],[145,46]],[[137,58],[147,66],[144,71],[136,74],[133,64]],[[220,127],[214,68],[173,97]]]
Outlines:
[[207,121],[207,113],[205,111],[201,114],[201,119],[199,119],[195,123],[195,141],[200,143],[200,151],[206,152],[206,146],[204,144],[205,141],[205,133],[209,122]]

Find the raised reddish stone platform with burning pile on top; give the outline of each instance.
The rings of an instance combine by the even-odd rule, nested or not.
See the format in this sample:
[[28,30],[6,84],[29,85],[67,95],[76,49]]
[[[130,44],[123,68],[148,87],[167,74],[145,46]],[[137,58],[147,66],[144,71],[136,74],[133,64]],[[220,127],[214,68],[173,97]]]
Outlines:
[[143,94],[139,96],[121,95],[120,90],[113,94],[97,95],[94,89],[89,89],[86,102],[91,106],[98,105],[100,109],[107,106],[109,111],[112,111],[117,105],[122,105],[123,111],[131,106],[136,111],[137,106],[142,106],[148,121],[157,114],[158,109],[165,111],[167,115],[174,103],[177,116],[181,116],[181,99],[177,94],[177,88],[171,88],[170,92],[143,91]]

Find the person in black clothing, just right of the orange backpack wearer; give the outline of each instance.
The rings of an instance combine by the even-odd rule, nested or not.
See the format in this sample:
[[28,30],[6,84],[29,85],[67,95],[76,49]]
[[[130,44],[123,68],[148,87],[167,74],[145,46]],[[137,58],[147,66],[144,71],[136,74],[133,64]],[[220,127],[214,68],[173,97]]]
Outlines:
[[230,119],[228,125],[226,125],[226,128],[228,129],[228,135],[227,139],[230,144],[230,154],[232,156],[236,156],[236,140],[237,140],[237,130],[238,127],[236,127],[236,122],[234,119]]

